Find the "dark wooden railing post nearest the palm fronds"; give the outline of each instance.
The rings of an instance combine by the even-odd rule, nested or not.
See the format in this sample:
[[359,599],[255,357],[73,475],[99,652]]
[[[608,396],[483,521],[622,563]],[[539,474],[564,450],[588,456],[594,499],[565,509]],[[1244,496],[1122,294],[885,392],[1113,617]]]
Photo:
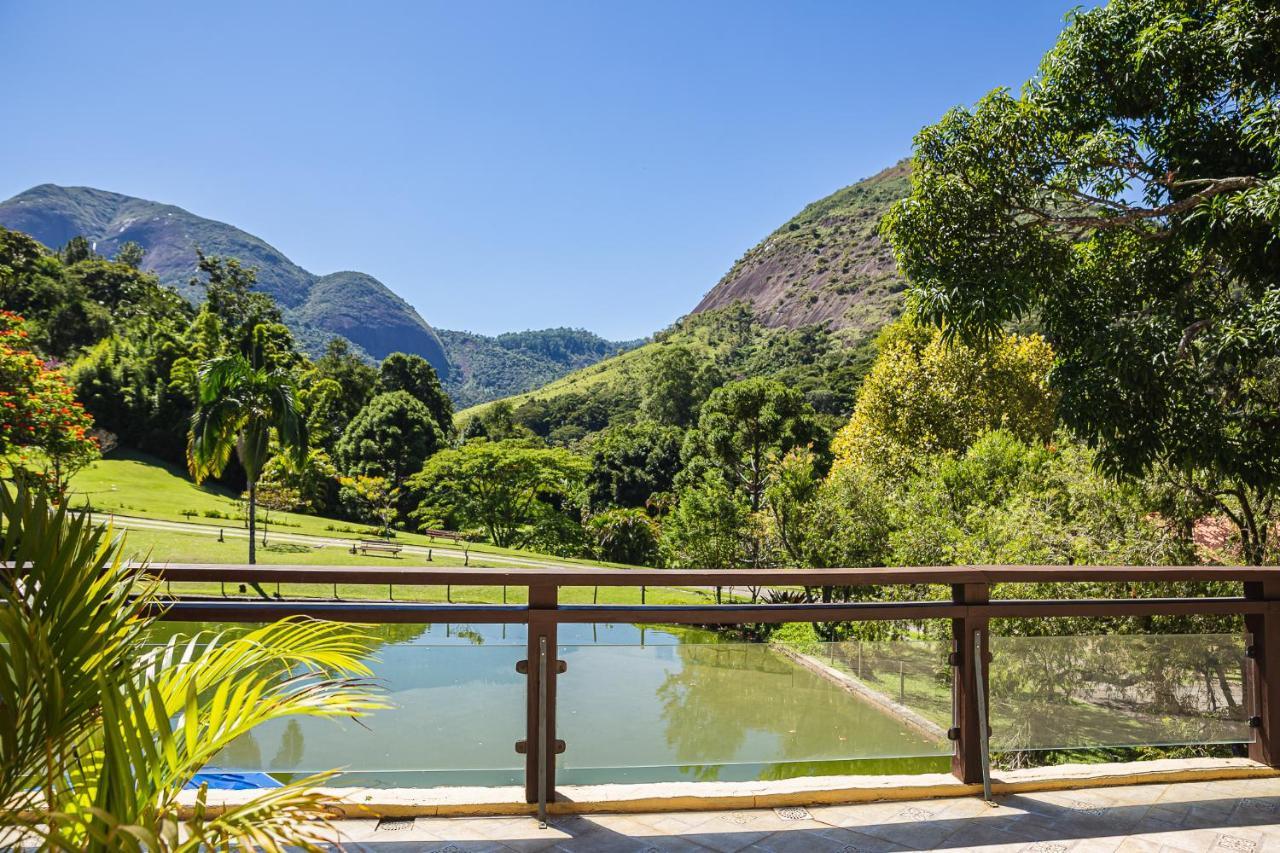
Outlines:
[[[538,585],[529,588],[529,643],[526,658],[525,708],[525,800],[538,802],[540,772],[545,772],[547,802],[556,802],[556,675],[561,671],[556,638],[554,611],[559,605],[559,588]],[[547,642],[547,727],[539,733],[539,678],[538,658],[541,643]],[[540,735],[540,736],[539,736]],[[541,756],[547,756],[545,768]]]

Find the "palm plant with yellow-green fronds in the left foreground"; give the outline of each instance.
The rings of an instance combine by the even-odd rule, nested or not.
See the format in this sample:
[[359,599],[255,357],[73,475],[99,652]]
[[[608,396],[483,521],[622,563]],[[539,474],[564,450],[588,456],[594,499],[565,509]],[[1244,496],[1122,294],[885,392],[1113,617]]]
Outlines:
[[353,630],[284,620],[148,646],[164,608],[123,538],[0,484],[0,847],[324,848],[332,774],[212,809],[196,774],[255,726],[383,707]]

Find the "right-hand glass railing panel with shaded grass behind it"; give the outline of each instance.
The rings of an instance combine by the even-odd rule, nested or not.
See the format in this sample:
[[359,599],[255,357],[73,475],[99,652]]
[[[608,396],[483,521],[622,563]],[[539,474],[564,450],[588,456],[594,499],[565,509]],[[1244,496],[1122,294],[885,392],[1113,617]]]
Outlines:
[[997,751],[1252,740],[1238,634],[992,637]]

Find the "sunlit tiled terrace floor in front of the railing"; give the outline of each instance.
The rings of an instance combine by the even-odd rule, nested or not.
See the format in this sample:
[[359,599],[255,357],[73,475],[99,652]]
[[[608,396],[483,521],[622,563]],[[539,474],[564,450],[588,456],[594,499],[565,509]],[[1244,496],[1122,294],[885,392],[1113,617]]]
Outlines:
[[1280,780],[1135,785],[808,809],[342,821],[343,847],[424,850],[1030,850],[1280,853]]

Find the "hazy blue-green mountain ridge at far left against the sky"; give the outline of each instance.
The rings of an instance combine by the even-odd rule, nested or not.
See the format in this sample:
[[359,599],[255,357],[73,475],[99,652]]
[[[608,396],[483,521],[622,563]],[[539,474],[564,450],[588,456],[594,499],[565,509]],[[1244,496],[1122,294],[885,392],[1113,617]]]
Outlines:
[[338,334],[372,359],[413,352],[442,377],[449,369],[435,330],[376,278],[352,272],[316,275],[253,234],[174,205],[44,183],[0,202],[0,225],[26,232],[50,248],[83,236],[108,257],[133,241],[146,250],[143,269],[192,302],[204,297],[198,286],[191,286],[197,246],[209,255],[238,257],[257,269],[259,287],[280,304],[308,352],[319,352]]

